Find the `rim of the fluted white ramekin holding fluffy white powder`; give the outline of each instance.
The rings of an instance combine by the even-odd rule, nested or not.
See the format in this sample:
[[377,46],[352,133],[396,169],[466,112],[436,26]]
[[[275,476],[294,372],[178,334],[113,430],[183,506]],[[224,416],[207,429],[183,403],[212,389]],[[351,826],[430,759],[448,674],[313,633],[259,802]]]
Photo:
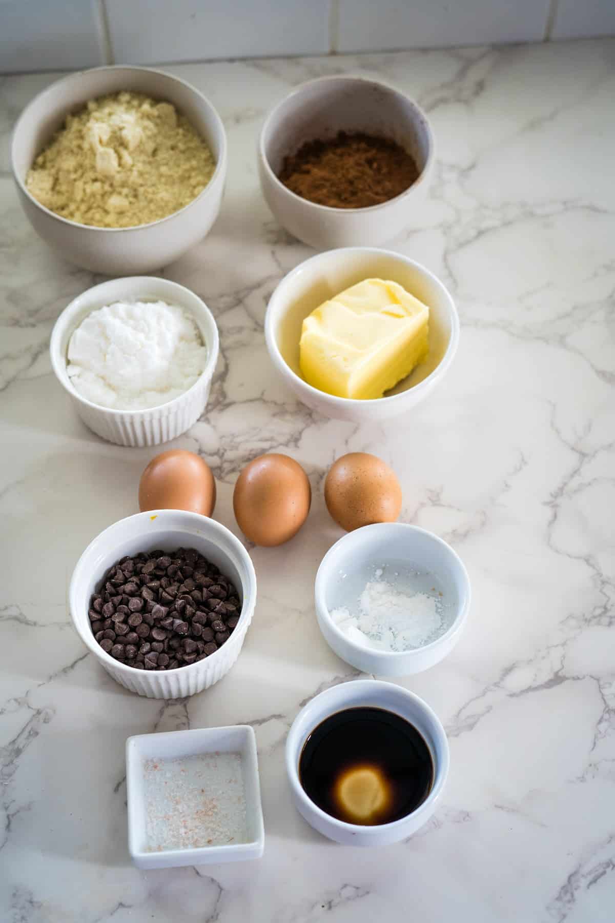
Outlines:
[[[128,282],[139,281],[139,282],[143,282],[144,287],[145,287],[148,280],[152,280],[152,279],[157,283],[161,282],[164,285],[168,285],[174,291],[177,291],[179,289],[182,292],[187,292],[189,295],[196,298],[198,302],[200,303],[199,306],[201,310],[204,312],[204,315],[207,318],[207,323],[210,325],[211,331],[212,331],[211,347],[209,343],[207,342],[205,343],[205,345],[207,346],[207,362],[205,364],[205,368],[203,369],[199,377],[196,379],[195,383],[190,386],[190,388],[188,388],[185,391],[182,391],[181,394],[176,395],[176,397],[172,398],[171,401],[156,404],[153,407],[141,407],[141,408],[138,408],[137,410],[121,410],[115,407],[104,407],[102,406],[102,404],[97,404],[97,403],[94,403],[93,401],[89,401],[88,398],[80,394],[77,391],[77,389],[70,383],[70,378],[68,378],[67,375],[66,375],[66,378],[68,378],[68,383],[66,383],[66,381],[62,378],[60,374],[62,370],[62,364],[64,363],[64,371],[66,371],[66,366],[67,366],[67,358],[66,356],[62,355],[62,352],[60,350],[60,338],[62,336],[63,327],[67,324],[68,320],[71,317],[71,314],[77,310],[77,302],[81,298],[85,297],[85,295],[95,292],[97,291],[97,289],[101,289],[105,285],[122,285],[124,284],[124,282],[128,283]],[[119,298],[116,298],[114,300],[117,301],[119,300]],[[111,304],[113,304],[113,301],[111,302]],[[191,312],[188,308],[184,308],[181,305],[180,307],[182,307],[182,310],[185,311],[187,314],[191,314],[191,316],[195,319],[195,322],[196,322],[196,318],[194,317],[193,312]],[[96,311],[96,310],[100,310],[100,308],[92,307],[92,309],[89,311],[89,314],[91,314],[92,311]],[[89,317],[89,314],[86,317]],[[83,319],[85,320],[85,318]],[[197,324],[197,327],[198,326],[199,325]],[[73,330],[73,332],[75,330],[77,330],[77,327]],[[199,328],[199,333],[200,333],[200,328]],[[201,333],[201,337],[203,338],[202,333]],[[195,392],[195,390],[197,390],[202,385],[204,378],[208,378],[208,379],[213,378],[214,372],[216,370],[216,365],[218,364],[218,356],[219,356],[218,324],[216,323],[216,318],[214,318],[213,314],[211,313],[211,310],[207,307],[207,305],[205,304],[203,299],[200,297],[200,295],[197,295],[195,292],[192,291],[192,289],[187,288],[185,285],[181,285],[180,282],[173,282],[172,279],[165,279],[160,276],[119,276],[117,279],[108,279],[106,282],[99,282],[97,285],[92,285],[89,289],[86,289],[84,292],[81,292],[81,294],[77,294],[75,298],[73,298],[73,300],[70,301],[68,305],[66,305],[65,308],[62,309],[62,311],[56,318],[55,323],[53,324],[52,335],[49,341],[49,354],[50,354],[50,359],[52,363],[53,374],[55,375],[55,378],[57,378],[58,382],[65,389],[65,391],[68,394],[70,394],[72,398],[77,399],[77,401],[85,404],[87,407],[93,408],[98,413],[106,414],[106,415],[114,415],[114,416],[117,416],[117,414],[122,414],[123,416],[126,416],[126,417],[138,417],[139,414],[141,415],[142,414],[152,414],[155,411],[160,411],[164,409],[164,412],[165,412],[164,415],[166,416],[172,413],[172,411],[177,407],[179,402],[183,402],[186,395],[192,394],[193,392]]]

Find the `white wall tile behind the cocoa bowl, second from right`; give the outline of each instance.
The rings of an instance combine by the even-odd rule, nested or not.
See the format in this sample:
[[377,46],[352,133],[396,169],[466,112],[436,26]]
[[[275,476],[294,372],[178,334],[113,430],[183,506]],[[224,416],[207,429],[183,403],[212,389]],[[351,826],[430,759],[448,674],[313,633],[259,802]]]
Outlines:
[[540,42],[549,0],[338,0],[337,51]]

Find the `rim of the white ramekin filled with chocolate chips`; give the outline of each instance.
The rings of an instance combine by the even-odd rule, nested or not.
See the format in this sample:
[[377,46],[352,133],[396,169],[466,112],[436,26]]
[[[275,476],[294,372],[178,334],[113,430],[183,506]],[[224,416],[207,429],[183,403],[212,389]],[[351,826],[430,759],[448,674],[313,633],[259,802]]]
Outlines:
[[[88,633],[87,631],[84,631],[81,629],[81,626],[77,623],[77,615],[76,615],[77,587],[78,587],[78,583],[82,579],[81,571],[82,569],[85,568],[86,558],[89,557],[90,554],[95,552],[99,545],[104,546],[109,537],[109,533],[112,533],[114,530],[118,528],[122,528],[124,523],[129,522],[129,521],[136,521],[136,520],[145,522],[147,520],[159,519],[160,517],[164,518],[165,515],[168,515],[168,514],[172,514],[176,517],[179,517],[180,519],[183,519],[188,522],[192,522],[194,524],[198,523],[201,526],[201,528],[203,527],[204,521],[206,521],[207,526],[214,533],[214,537],[215,537],[215,533],[219,533],[219,534],[224,535],[224,537],[228,541],[231,542],[231,545],[234,546],[239,557],[242,558],[242,562],[248,574],[248,584],[249,584],[246,588],[242,587],[244,591],[242,611],[240,613],[240,621],[237,623],[236,628],[239,628],[239,624],[242,618],[244,617],[248,618],[248,616],[250,615],[250,617],[248,618],[248,624],[249,624],[251,620],[250,610],[254,612],[254,605],[256,604],[256,573],[254,570],[254,564],[252,563],[252,558],[247,553],[247,551],[245,550],[240,540],[237,538],[235,534],[231,532],[229,528],[227,528],[227,526],[222,525],[222,523],[217,520],[211,519],[209,516],[201,516],[200,513],[190,512],[190,510],[188,509],[146,509],[144,512],[133,513],[132,516],[124,516],[124,519],[116,520],[112,522],[105,529],[103,529],[102,532],[98,533],[98,535],[95,535],[94,538],[91,540],[91,542],[89,542],[89,545],[87,545],[86,548],[84,548],[84,550],[81,552],[81,555],[79,556],[77,560],[77,564],[75,565],[75,569],[73,570],[73,573],[70,578],[70,583],[68,585],[68,609],[70,612],[70,617],[73,623],[73,627],[77,631],[77,635],[79,636],[81,641],[83,641],[83,643],[86,645],[86,647],[89,649],[89,652],[93,653],[99,660],[101,660],[101,663],[108,664],[112,666],[114,670],[119,670],[121,673],[126,672],[129,675],[145,674],[145,676],[148,676],[149,671],[137,670],[135,666],[131,666],[129,664],[123,664],[121,661],[116,660],[114,657],[111,656],[110,653],[107,653],[106,651],[102,650],[101,645],[94,638],[94,634],[92,631],[89,631]],[[178,531],[182,531],[182,530],[178,530]],[[192,534],[193,533],[186,532],[186,536],[192,536]],[[250,594],[249,599],[248,599],[248,605],[245,605],[245,599],[248,593]],[[230,641],[232,641],[233,635],[234,635],[234,630],[229,640],[225,641],[225,644],[228,644]],[[215,651],[214,653],[210,653],[209,656],[206,658],[205,662],[207,663],[212,658],[217,657],[223,646],[224,645],[220,645],[218,651]],[[165,676],[167,674],[172,674],[174,676],[176,673],[178,673],[181,670],[182,675],[184,676],[186,675],[185,671],[192,670],[194,673],[196,668],[198,667],[202,668],[203,663],[204,663],[203,661],[196,660],[194,664],[176,666],[172,670],[165,670],[164,674]],[[158,675],[159,671],[153,671],[153,672],[155,675]]]

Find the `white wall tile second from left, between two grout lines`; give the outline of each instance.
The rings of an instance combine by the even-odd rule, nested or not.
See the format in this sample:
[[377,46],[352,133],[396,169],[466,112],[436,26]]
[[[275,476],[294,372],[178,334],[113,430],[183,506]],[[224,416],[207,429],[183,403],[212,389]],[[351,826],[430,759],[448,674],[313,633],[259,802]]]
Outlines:
[[106,0],[118,64],[325,54],[329,0]]

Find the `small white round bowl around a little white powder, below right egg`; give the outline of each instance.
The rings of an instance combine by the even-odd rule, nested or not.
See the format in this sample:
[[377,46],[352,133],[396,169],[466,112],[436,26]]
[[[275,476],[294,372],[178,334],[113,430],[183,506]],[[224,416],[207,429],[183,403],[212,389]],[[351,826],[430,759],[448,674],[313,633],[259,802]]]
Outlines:
[[[445,593],[452,595],[449,627],[435,641],[409,651],[381,651],[352,641],[333,621],[331,610],[344,605],[339,590],[341,581],[348,577],[341,575],[388,563],[427,570],[442,583]],[[342,536],[329,548],[316,573],[314,602],[318,625],[338,657],[364,673],[405,677],[429,669],[453,650],[466,624],[470,581],[461,558],[437,535],[406,522],[377,522]]]

